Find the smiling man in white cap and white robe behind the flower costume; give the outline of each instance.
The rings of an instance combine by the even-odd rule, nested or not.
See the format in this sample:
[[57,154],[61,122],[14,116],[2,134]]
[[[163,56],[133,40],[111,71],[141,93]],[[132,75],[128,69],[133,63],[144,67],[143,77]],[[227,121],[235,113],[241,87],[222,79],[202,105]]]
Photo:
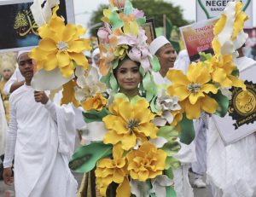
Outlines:
[[[160,61],[160,72],[154,72],[154,82],[158,89],[166,88],[171,82],[166,78],[166,73],[174,66],[176,60],[176,51],[172,44],[163,36],[155,38],[150,43],[149,51],[152,55],[156,55]],[[193,188],[189,183],[189,166],[190,163],[195,162],[195,144],[191,142],[186,145],[182,142],[181,149],[176,154],[176,158],[181,162],[181,167],[174,171],[174,188],[177,197],[192,197],[194,196]]]

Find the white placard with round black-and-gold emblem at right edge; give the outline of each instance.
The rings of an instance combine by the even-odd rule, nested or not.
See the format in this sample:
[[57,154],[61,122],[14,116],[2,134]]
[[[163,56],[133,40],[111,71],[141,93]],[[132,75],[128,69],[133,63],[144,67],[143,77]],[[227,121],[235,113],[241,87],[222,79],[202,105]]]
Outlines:
[[239,78],[245,80],[247,92],[232,88],[229,112],[220,118],[213,116],[220,136],[226,145],[256,131],[256,64],[241,71]]

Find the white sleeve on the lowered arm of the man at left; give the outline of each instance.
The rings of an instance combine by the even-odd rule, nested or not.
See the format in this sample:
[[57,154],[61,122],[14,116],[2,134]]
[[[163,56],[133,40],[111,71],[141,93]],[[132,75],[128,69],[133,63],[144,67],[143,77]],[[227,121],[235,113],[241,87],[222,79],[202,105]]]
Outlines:
[[9,127],[6,136],[5,155],[3,161],[3,167],[8,168],[12,166],[12,162],[15,156],[15,145],[17,136],[17,120],[16,109],[12,100],[9,101]]

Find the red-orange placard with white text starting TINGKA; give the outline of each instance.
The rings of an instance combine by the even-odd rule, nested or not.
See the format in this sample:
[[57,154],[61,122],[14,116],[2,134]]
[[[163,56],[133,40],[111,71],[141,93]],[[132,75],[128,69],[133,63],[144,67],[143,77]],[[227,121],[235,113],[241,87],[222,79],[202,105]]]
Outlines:
[[200,52],[205,52],[206,54],[211,53],[213,55],[213,27],[217,21],[218,19],[203,20],[179,28],[190,61],[197,61],[200,58]]

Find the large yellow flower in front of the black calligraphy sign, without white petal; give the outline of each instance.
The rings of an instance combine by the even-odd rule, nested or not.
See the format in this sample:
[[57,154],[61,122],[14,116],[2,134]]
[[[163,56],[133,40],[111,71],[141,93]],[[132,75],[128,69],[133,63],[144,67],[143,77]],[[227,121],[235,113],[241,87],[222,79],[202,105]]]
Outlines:
[[42,40],[38,47],[32,49],[30,57],[37,61],[38,69],[52,71],[58,67],[62,76],[69,78],[76,65],[84,69],[89,66],[82,52],[91,49],[90,40],[79,38],[85,33],[82,26],[73,24],[65,26],[64,21],[56,14],[58,9],[59,6],[56,5],[49,24],[38,28]]

